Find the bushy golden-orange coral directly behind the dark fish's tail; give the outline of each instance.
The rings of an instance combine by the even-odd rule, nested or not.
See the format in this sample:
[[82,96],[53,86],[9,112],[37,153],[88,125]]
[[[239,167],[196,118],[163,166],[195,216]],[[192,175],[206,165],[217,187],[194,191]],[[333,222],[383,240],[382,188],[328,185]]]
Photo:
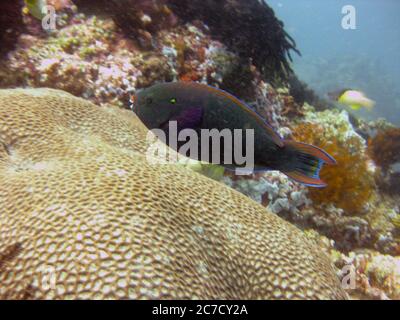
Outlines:
[[340,141],[336,136],[327,139],[324,128],[312,123],[302,123],[292,128],[293,139],[316,145],[331,154],[335,166],[324,166],[321,179],[328,186],[310,188],[310,198],[316,204],[332,203],[346,214],[359,214],[371,198],[374,180],[368,172],[367,157],[362,142],[357,137]]

